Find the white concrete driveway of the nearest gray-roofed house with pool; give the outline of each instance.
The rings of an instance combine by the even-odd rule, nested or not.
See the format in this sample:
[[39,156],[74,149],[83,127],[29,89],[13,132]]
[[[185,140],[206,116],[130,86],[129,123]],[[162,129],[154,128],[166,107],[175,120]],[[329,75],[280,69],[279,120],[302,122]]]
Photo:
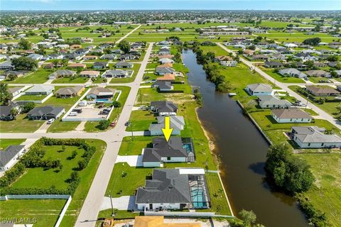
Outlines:
[[110,203],[110,197],[105,196],[102,201],[100,211],[106,209],[118,209],[120,211],[137,210],[135,204],[136,196],[121,196],[118,198],[112,198],[112,204]]

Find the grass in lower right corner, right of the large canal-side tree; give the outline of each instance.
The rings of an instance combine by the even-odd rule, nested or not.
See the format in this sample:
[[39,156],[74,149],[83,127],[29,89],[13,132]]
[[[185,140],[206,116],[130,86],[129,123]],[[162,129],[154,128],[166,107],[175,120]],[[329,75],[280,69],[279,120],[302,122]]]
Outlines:
[[341,154],[299,154],[306,160],[316,179],[304,195],[325,213],[332,226],[341,223]]

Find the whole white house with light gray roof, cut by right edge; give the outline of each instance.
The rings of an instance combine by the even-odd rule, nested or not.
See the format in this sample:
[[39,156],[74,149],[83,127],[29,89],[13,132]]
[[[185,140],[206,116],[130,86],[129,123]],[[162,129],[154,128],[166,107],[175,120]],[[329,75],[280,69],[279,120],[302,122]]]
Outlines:
[[300,148],[341,147],[341,138],[338,135],[325,134],[325,128],[318,128],[318,126],[293,126],[291,135]]

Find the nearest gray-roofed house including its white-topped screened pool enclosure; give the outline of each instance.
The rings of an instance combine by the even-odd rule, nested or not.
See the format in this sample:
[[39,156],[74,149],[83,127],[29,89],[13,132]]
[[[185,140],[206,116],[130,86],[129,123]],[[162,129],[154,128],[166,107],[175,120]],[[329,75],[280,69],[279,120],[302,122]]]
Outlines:
[[152,179],[137,189],[135,203],[139,210],[209,208],[205,170],[154,169]]

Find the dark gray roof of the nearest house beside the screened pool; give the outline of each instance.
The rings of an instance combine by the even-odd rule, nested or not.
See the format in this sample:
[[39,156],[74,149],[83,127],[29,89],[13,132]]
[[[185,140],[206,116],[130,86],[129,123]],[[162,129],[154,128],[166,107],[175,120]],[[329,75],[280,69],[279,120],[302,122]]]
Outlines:
[[139,187],[136,193],[136,204],[190,202],[188,175],[181,175],[178,169],[153,170],[153,178],[147,179],[146,186]]

